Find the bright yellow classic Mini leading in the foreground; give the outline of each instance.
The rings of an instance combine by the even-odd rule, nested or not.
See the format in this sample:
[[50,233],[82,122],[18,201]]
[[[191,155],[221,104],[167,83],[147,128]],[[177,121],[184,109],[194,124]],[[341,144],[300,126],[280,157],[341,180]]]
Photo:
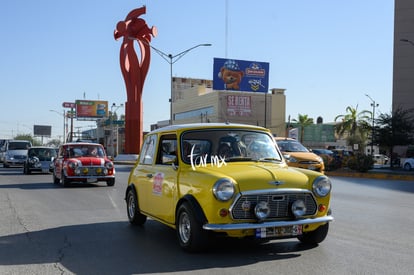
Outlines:
[[208,123],[147,134],[125,199],[131,224],[155,219],[198,251],[223,235],[320,243],[333,220],[330,195],[329,178],[289,167],[269,130]]

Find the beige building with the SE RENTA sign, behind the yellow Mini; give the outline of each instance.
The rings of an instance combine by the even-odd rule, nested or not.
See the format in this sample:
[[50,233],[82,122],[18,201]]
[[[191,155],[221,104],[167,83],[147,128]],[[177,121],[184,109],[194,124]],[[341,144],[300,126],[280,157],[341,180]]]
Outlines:
[[[217,91],[212,80],[173,78],[172,124],[230,122],[266,127],[274,135],[286,131],[284,89],[269,93]],[[163,126],[162,122],[158,127]]]

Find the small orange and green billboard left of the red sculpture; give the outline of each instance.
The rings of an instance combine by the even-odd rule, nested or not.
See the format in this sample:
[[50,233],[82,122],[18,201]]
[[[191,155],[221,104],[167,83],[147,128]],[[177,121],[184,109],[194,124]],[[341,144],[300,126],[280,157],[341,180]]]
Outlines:
[[76,100],[76,117],[103,118],[108,116],[108,101],[102,100]]

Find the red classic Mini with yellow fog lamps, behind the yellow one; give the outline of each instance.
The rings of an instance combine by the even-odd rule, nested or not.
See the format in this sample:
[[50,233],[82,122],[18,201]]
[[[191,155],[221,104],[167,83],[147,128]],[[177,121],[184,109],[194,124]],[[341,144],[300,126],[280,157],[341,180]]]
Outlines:
[[68,186],[70,183],[105,181],[115,184],[115,167],[98,143],[66,143],[60,146],[53,162],[53,182]]

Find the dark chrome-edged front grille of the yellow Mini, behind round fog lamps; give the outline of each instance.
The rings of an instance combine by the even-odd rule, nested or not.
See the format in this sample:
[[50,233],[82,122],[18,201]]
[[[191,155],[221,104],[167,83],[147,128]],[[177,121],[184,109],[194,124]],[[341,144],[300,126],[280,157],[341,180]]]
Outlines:
[[308,191],[274,192],[274,193],[252,193],[242,194],[230,209],[235,220],[256,219],[254,208],[259,202],[267,202],[270,208],[270,215],[266,220],[272,219],[293,219],[290,206],[296,200],[303,200],[306,205],[304,216],[314,215],[317,211],[317,204]]

